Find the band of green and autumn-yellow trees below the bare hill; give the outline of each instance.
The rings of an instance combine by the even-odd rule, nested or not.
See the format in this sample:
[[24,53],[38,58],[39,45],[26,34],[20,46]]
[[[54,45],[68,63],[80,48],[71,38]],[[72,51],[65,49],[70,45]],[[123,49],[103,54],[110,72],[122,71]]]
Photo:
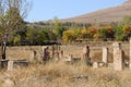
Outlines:
[[8,41],[11,46],[21,45],[50,45],[57,42],[75,42],[76,40],[86,41],[127,41],[131,36],[131,16],[126,16],[120,23],[110,24],[76,24],[70,23],[64,26],[55,18],[50,26],[35,27],[26,26],[14,33],[13,38]]

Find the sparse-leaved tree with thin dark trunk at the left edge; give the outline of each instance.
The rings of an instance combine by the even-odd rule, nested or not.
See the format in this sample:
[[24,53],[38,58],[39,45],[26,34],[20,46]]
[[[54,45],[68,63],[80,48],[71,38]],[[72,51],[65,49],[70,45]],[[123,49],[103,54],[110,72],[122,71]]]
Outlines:
[[1,55],[5,59],[5,47],[13,35],[25,27],[24,18],[29,5],[26,0],[0,0]]

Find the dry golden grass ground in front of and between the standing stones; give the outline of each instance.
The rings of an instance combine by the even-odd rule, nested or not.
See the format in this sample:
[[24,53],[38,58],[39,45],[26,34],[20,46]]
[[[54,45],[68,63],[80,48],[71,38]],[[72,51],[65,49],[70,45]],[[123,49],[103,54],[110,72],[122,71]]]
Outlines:
[[[91,60],[102,62],[103,46],[109,48],[109,63],[112,63],[112,44],[91,44]],[[24,58],[28,59],[31,51],[39,47],[9,47],[7,50],[10,60]],[[63,54],[72,54],[80,59],[83,45],[64,45]],[[129,42],[122,44],[126,53],[126,60],[129,60]],[[32,57],[32,55],[31,55]],[[38,57],[40,57],[38,54]],[[28,66],[16,66],[12,71],[0,71],[0,87],[131,87],[131,71],[124,67],[122,71],[115,71],[110,66],[100,66],[93,69],[82,61],[67,62],[50,60],[46,63],[32,61]]]

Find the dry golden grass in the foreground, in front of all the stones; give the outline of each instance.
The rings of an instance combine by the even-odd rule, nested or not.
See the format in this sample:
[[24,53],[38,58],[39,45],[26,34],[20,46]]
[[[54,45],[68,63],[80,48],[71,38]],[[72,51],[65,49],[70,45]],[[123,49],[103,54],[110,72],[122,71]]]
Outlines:
[[80,62],[50,61],[1,72],[0,87],[7,84],[5,80],[13,83],[12,87],[130,87],[130,73],[129,70],[115,72],[109,67],[95,70]]

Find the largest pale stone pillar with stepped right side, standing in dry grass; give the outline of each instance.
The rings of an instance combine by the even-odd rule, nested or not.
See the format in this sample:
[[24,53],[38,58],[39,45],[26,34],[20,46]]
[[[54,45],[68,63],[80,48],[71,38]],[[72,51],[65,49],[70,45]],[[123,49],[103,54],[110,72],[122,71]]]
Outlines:
[[123,51],[119,42],[114,42],[114,69],[116,71],[122,71],[123,69]]

